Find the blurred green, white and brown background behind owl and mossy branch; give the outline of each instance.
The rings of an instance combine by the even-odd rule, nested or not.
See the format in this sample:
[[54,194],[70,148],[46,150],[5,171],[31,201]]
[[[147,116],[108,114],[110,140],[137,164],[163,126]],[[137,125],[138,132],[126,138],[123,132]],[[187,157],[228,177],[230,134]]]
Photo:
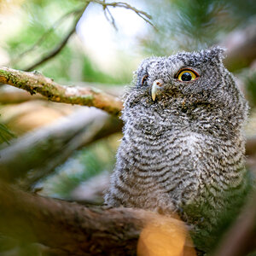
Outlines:
[[[110,3],[110,2],[108,2]],[[247,167],[256,171],[256,4],[253,0],[133,0],[143,10],[83,0],[0,1],[0,65],[121,96],[143,58],[221,45],[250,104]],[[149,22],[152,22],[152,25]],[[0,85],[0,169],[27,190],[102,204],[122,123],[94,108]]]

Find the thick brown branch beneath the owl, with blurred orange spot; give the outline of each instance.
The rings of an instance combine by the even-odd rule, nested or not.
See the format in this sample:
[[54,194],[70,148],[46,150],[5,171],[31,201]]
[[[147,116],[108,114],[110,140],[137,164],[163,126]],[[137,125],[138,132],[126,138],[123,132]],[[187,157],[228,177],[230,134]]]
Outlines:
[[[187,234],[182,222],[153,212],[86,208],[30,195],[3,183],[0,209],[0,232],[54,248],[60,252],[56,255],[195,255],[191,243],[184,248]],[[152,239],[163,254],[151,254]]]

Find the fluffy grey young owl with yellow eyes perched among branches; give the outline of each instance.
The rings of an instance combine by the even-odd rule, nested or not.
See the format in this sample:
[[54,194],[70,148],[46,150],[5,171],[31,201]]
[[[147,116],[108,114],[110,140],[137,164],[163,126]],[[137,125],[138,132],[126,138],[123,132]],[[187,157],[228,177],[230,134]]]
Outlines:
[[[124,97],[124,137],[105,202],[172,214],[207,251],[247,190],[247,102],[224,49],[151,57]],[[215,233],[214,233],[215,232]]]

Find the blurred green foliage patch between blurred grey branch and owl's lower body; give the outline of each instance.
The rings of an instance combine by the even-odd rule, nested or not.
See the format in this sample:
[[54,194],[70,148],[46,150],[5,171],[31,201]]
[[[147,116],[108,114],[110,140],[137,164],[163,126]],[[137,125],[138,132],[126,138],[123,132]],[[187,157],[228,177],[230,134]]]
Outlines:
[[[44,190],[48,195],[69,199],[70,193],[80,183],[101,172],[112,172],[115,162],[116,137],[110,137],[101,142],[75,152],[56,174],[47,178]],[[41,185],[41,184],[40,184]]]

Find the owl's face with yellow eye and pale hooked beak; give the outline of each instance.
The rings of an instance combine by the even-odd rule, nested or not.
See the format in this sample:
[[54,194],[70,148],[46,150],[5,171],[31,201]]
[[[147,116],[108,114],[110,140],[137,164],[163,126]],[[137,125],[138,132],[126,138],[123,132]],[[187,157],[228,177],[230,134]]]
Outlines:
[[196,102],[216,102],[218,91],[223,93],[228,87],[223,81],[227,73],[223,52],[214,48],[146,59],[137,70],[134,91],[139,97],[149,96],[148,106],[188,97]]

